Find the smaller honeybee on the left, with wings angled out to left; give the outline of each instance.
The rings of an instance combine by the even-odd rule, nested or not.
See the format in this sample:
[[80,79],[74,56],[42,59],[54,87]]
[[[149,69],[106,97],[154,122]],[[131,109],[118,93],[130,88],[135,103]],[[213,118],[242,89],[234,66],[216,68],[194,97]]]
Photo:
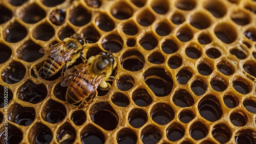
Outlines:
[[87,41],[82,38],[82,35],[74,34],[62,42],[41,48],[39,52],[49,54],[42,67],[45,77],[51,77],[62,69],[63,80],[67,68],[75,63],[76,59],[81,57],[85,60],[81,53],[86,47],[85,43]]

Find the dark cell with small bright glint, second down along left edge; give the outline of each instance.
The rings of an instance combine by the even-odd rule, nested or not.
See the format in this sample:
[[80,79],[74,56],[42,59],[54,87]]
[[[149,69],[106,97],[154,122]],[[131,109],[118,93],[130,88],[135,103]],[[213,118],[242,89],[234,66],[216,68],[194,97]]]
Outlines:
[[10,43],[16,43],[23,40],[27,36],[28,32],[26,28],[18,22],[10,23],[5,30],[3,30],[3,36],[5,41]]

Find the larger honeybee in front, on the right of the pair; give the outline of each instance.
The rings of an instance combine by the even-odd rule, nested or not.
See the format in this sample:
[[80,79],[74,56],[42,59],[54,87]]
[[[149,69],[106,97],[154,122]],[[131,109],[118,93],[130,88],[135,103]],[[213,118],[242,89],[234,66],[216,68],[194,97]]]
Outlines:
[[[111,84],[106,81],[114,80],[111,76],[116,67],[115,56],[109,51],[91,56],[82,68],[64,78],[62,87],[67,87],[66,100],[70,104],[82,103],[78,108],[92,102],[96,97],[98,87],[108,89]],[[117,57],[115,57],[117,58]],[[79,66],[79,65],[78,65]]]

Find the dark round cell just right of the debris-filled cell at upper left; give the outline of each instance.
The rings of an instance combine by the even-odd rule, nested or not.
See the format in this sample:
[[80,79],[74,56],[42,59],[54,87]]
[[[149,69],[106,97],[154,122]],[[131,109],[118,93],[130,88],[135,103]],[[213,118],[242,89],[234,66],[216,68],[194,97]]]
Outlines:
[[92,18],[91,12],[87,11],[87,9],[78,6],[70,10],[68,19],[75,26],[82,26],[90,22]]

